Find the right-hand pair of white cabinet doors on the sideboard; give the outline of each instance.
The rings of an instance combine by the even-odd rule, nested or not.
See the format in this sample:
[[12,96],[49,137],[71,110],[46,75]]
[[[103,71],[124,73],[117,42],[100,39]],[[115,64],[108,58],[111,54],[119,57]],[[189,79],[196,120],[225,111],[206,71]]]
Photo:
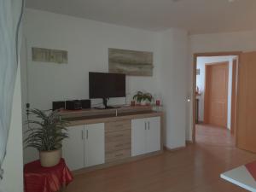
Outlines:
[[160,150],[160,117],[131,120],[131,156]]

